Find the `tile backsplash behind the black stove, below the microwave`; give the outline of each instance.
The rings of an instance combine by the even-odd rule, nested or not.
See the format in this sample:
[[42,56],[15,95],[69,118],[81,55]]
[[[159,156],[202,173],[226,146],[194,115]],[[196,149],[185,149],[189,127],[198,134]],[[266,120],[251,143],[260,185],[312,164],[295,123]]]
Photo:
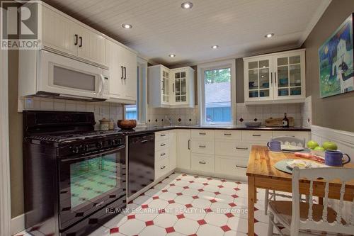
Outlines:
[[23,102],[23,109],[35,111],[88,111],[95,113],[96,126],[99,128],[98,120],[102,118],[113,121],[123,118],[123,105],[120,103],[108,102],[82,102],[61,99],[26,98]]

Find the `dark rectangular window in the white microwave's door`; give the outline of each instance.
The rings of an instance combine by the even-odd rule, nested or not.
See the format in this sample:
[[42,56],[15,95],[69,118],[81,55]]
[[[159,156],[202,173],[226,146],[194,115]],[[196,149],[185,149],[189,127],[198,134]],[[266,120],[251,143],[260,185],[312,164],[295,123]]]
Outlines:
[[72,89],[96,91],[96,76],[54,66],[53,84]]

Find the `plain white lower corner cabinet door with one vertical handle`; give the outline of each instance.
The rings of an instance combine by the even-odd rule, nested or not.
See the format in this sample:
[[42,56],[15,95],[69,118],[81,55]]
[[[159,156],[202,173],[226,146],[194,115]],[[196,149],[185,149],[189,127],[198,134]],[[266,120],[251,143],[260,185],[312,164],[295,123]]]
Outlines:
[[190,130],[176,130],[177,168],[190,169]]

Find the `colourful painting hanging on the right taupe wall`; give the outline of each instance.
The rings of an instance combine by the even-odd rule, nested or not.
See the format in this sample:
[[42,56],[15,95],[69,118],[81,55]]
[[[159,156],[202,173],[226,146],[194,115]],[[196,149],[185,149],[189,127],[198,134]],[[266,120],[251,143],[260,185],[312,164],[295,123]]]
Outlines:
[[354,91],[353,13],[319,47],[321,98]]

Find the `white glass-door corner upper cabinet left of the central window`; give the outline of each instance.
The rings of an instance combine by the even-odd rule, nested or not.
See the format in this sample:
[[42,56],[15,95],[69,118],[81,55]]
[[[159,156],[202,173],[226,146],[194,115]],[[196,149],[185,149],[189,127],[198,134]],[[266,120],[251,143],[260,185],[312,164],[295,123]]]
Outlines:
[[194,69],[190,67],[148,67],[148,84],[150,107],[194,106]]

